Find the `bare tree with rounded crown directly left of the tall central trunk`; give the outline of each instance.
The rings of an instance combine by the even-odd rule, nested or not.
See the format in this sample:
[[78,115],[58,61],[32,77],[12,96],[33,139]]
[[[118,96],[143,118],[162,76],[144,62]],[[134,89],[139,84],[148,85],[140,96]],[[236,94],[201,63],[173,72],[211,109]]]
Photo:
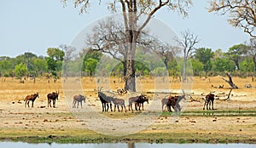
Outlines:
[[125,48],[125,29],[122,24],[113,18],[99,21],[88,35],[86,43],[90,49],[109,54],[122,63],[123,76],[126,76],[128,50]]

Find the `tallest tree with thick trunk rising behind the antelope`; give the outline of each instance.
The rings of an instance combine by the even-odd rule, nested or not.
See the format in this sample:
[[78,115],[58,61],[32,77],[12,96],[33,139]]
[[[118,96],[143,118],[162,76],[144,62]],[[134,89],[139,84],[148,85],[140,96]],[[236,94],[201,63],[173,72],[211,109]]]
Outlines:
[[[67,0],[63,0],[67,2]],[[101,1],[99,1],[101,3]],[[137,49],[137,39],[141,35],[141,32],[148,25],[149,20],[153,15],[161,8],[168,8],[174,11],[178,11],[180,14],[187,15],[187,10],[192,4],[191,0],[119,0],[108,1],[108,9],[113,13],[121,12],[124,21],[125,32],[125,50],[127,52],[126,57],[126,75],[125,75],[125,89],[136,91],[135,85],[135,53]],[[75,7],[80,6],[80,13],[87,11],[90,6],[90,0],[75,0]],[[145,18],[143,14],[148,14]],[[144,19],[144,20],[143,20]],[[138,22],[142,22],[139,25]]]

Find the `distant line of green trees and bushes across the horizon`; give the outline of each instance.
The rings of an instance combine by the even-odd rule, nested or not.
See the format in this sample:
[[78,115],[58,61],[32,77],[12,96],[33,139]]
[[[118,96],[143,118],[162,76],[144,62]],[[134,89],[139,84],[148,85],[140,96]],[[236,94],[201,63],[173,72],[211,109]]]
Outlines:
[[[255,50],[255,49],[254,49]],[[122,77],[124,68],[106,54],[96,50],[84,49],[78,55],[74,50],[48,48],[47,56],[38,56],[30,52],[20,54],[15,58],[0,57],[1,77],[61,77],[61,71],[69,76],[94,76],[97,72],[108,73]],[[256,52],[245,44],[231,47],[227,52],[221,49],[197,48],[188,60],[187,72],[190,76],[216,76],[230,71],[233,76],[253,77],[256,71]],[[183,58],[150,54],[143,49],[137,49],[135,57],[137,76],[162,76],[167,71],[171,77],[181,77]],[[98,65],[104,63],[103,66]],[[114,65],[114,66],[113,66]]]

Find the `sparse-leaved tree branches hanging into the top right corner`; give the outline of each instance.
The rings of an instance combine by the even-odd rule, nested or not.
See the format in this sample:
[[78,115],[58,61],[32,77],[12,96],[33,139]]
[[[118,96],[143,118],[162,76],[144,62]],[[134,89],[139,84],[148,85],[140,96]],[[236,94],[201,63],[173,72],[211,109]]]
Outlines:
[[255,0],[212,0],[209,12],[227,14],[230,25],[242,28],[251,37],[256,37]]

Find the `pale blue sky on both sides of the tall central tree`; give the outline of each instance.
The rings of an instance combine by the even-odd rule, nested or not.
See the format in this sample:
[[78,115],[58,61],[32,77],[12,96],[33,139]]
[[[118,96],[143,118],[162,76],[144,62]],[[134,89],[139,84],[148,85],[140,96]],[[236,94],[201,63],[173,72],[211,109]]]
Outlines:
[[[2,1],[0,4],[0,55],[15,57],[25,52],[46,55],[47,48],[70,44],[85,26],[110,14],[107,5],[92,4],[89,14],[79,14],[73,1],[64,8],[60,0]],[[221,48],[244,43],[249,36],[241,29],[230,26],[227,18],[209,14],[207,1],[193,1],[189,18],[161,9],[154,17],[180,35],[192,31],[200,38],[197,47]]]

